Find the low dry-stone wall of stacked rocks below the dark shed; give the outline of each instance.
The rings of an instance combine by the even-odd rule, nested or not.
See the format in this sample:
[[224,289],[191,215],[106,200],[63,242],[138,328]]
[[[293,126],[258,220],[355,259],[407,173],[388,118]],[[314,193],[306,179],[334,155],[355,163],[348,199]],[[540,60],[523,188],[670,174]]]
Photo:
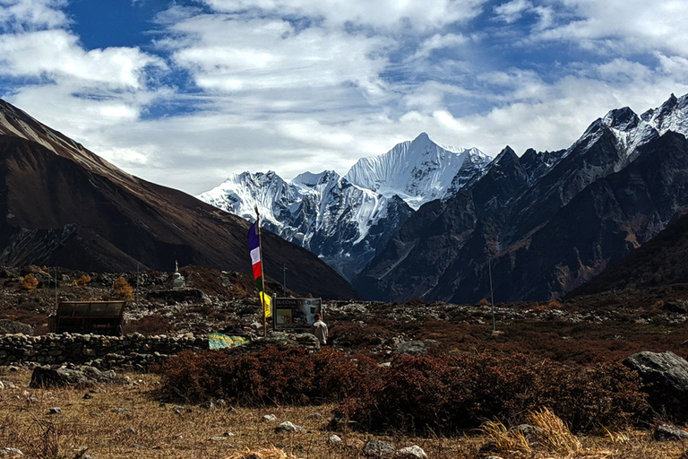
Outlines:
[[48,333],[40,336],[0,334],[0,366],[28,362],[70,362],[96,368],[145,370],[151,364],[162,363],[170,355],[200,349],[208,349],[208,337],[193,336],[191,333],[180,337],[144,336],[141,333],[126,336],[77,333]]

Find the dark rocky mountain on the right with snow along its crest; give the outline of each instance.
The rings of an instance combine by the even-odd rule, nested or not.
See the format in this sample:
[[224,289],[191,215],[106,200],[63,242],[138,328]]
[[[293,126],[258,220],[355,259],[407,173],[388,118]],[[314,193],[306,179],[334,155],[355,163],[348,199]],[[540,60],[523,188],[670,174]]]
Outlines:
[[[506,147],[456,195],[420,207],[353,285],[367,299],[549,299],[686,212],[688,95],[610,111],[560,152]],[[491,274],[491,275],[490,275]]]

